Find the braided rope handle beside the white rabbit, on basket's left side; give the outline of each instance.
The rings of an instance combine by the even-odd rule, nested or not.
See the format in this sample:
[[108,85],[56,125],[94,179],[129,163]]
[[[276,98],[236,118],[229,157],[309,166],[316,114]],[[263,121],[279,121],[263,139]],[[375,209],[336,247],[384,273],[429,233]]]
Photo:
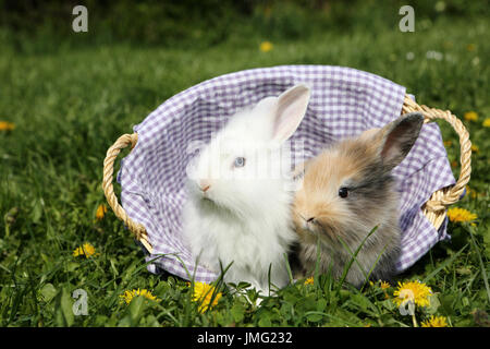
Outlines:
[[127,216],[124,208],[119,204],[118,197],[114,194],[114,188],[112,186],[113,172],[114,172],[114,161],[118,157],[119,153],[122,149],[131,145],[131,149],[134,148],[136,142],[138,141],[138,134],[123,134],[115,141],[115,143],[107,151],[106,159],[103,160],[103,179],[102,179],[102,189],[106,194],[106,198],[114,212],[115,216],[124,221],[127,228],[133,232],[136,240],[142,242],[148,252],[151,253],[151,244],[148,241],[148,234],[146,229],[139,222],[134,221]]

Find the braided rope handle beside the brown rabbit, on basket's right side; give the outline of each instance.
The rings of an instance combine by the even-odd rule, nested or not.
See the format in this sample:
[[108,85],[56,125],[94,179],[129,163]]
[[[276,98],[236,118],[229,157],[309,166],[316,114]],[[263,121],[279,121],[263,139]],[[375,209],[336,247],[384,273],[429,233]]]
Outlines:
[[436,108],[429,108],[427,106],[417,105],[411,97],[405,96],[405,100],[402,107],[402,112],[419,111],[425,117],[425,123],[431,122],[436,119],[442,119],[448,121],[451,127],[456,131],[460,136],[461,146],[461,171],[460,178],[452,186],[439,190],[430,196],[429,201],[424,205],[424,214],[429,220],[439,228],[445,218],[445,209],[449,205],[456,203],[466,188],[471,173],[471,142],[469,141],[469,133],[464,127],[463,122],[457,119],[449,110],[440,110]]

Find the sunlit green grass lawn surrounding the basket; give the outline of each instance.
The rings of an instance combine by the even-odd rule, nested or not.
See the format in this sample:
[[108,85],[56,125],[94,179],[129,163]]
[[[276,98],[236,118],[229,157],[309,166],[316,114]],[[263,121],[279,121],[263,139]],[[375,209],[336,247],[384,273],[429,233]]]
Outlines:
[[[417,310],[419,323],[433,313],[452,326],[488,325],[490,128],[482,121],[490,118],[489,31],[485,15],[440,17],[420,21],[415,33],[387,24],[281,38],[267,53],[258,46],[268,37],[258,32],[205,48],[111,44],[19,52],[5,44],[0,121],[16,128],[0,132],[0,325],[412,326],[412,317],[401,315],[391,300],[393,288],[387,299],[378,286],[358,291],[328,275],[314,285],[291,285],[260,308],[247,303],[241,286],[221,289],[218,305],[200,314],[184,280],[146,270],[142,251],[111,212],[95,220],[105,203],[102,161],[119,135],[204,80],[278,64],[353,67],[407,86],[419,103],[462,119],[466,111],[478,112],[478,121],[464,121],[479,147],[469,183],[478,195],[457,204],[478,215],[476,226],[450,224],[452,241],[439,243],[399,279],[419,279],[436,294],[433,306]],[[443,59],[426,58],[430,50]],[[449,158],[457,160],[457,136],[440,125],[444,140],[452,141]],[[100,255],[74,257],[84,242]],[[137,288],[159,301],[120,302],[120,294]],[[75,289],[87,292],[87,316],[71,311]]]

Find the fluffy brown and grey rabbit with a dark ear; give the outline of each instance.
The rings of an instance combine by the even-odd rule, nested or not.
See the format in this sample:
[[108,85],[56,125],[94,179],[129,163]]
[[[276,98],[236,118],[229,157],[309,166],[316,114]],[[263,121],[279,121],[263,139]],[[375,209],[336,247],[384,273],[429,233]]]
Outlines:
[[305,163],[299,179],[303,185],[293,205],[298,234],[295,277],[315,270],[319,238],[320,273],[331,270],[339,279],[375,227],[345,280],[360,287],[371,268],[372,279],[393,276],[401,230],[399,193],[391,170],[408,154],[422,123],[421,113],[408,113],[382,129],[339,142]]

